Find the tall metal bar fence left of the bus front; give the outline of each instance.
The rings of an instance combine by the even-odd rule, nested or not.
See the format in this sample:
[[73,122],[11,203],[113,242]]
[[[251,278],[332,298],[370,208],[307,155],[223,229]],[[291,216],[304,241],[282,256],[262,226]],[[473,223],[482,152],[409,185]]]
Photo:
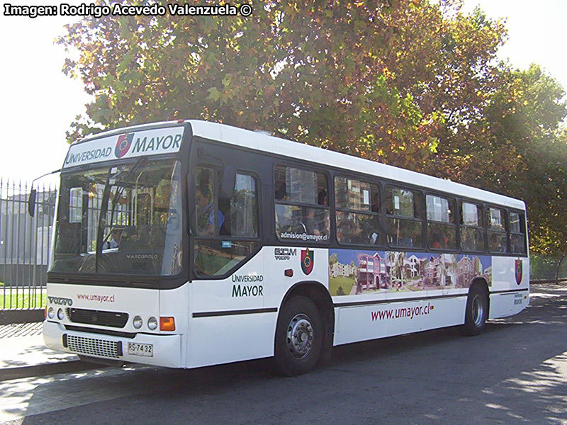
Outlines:
[[57,189],[50,185],[35,188],[35,215],[30,217],[30,184],[0,179],[0,310],[45,306]]

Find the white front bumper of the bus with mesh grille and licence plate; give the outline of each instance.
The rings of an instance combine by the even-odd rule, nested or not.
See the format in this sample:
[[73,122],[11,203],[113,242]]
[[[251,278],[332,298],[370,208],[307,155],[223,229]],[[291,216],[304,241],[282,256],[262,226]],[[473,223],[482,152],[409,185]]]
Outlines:
[[181,368],[181,335],[136,334],[134,338],[69,331],[43,322],[45,345],[57,351],[127,363]]

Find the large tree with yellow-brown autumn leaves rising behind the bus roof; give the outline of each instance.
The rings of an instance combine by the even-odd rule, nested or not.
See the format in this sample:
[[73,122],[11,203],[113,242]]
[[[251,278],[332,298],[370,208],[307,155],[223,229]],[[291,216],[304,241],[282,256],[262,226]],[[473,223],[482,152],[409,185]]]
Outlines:
[[420,169],[444,109],[474,92],[468,79],[503,37],[456,13],[459,1],[443,4],[253,1],[247,18],[84,18],[59,39],[80,52],[64,72],[94,96],[69,141],[101,126],[204,118]]

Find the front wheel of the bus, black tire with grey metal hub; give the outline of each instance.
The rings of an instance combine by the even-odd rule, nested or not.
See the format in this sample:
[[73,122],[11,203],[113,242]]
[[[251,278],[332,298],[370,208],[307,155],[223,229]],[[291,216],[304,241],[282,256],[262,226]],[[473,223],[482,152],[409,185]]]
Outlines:
[[274,358],[276,369],[286,376],[301,375],[315,367],[325,329],[319,310],[308,297],[288,300],[278,317]]

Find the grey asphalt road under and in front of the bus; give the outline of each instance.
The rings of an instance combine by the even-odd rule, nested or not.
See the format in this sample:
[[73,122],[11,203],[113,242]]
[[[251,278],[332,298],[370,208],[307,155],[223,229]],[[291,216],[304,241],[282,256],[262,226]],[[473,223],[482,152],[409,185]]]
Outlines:
[[335,348],[279,378],[269,361],[0,382],[9,424],[567,424],[567,288],[481,336],[455,328]]

